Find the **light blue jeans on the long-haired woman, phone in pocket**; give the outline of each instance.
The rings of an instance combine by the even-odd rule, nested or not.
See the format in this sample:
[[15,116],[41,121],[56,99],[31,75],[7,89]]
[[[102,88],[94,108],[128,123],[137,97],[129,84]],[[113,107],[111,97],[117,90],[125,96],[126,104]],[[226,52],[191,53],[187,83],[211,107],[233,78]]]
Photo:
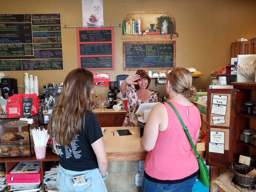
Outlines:
[[[82,174],[85,175],[86,184],[74,186],[73,177]],[[56,183],[60,192],[107,192],[98,168],[87,171],[70,171],[59,166]]]

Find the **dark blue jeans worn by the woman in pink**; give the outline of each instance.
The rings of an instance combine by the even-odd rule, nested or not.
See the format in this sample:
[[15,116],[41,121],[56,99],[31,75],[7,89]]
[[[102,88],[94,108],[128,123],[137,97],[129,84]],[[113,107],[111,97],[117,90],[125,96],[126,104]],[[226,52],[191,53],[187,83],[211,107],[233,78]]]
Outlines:
[[175,184],[163,184],[152,182],[146,177],[143,177],[141,192],[163,192],[163,191],[174,191],[174,192],[191,192],[193,185],[195,184],[196,177],[192,177],[186,181]]

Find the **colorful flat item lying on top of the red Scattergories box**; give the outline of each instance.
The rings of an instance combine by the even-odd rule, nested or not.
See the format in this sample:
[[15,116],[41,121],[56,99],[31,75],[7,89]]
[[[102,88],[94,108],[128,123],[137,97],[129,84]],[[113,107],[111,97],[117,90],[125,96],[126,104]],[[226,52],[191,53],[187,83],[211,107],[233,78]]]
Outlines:
[[14,167],[11,173],[37,173],[41,168],[39,161],[20,162]]

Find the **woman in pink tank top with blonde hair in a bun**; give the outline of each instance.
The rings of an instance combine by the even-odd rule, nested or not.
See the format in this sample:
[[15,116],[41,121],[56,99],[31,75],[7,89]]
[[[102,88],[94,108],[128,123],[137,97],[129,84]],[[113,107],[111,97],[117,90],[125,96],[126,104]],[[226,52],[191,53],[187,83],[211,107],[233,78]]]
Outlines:
[[[201,118],[187,98],[196,96],[188,69],[177,67],[168,75],[166,92],[196,144]],[[191,192],[198,176],[198,161],[180,120],[168,103],[154,106],[140,145],[148,151],[142,192]]]

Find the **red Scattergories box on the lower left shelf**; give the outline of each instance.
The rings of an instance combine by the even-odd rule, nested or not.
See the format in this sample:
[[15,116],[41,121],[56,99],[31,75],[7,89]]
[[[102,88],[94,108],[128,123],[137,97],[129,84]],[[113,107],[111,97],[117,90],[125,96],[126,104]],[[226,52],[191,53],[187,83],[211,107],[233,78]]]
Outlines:
[[7,173],[6,182],[7,183],[40,183],[41,170],[39,172],[23,172],[23,173]]

